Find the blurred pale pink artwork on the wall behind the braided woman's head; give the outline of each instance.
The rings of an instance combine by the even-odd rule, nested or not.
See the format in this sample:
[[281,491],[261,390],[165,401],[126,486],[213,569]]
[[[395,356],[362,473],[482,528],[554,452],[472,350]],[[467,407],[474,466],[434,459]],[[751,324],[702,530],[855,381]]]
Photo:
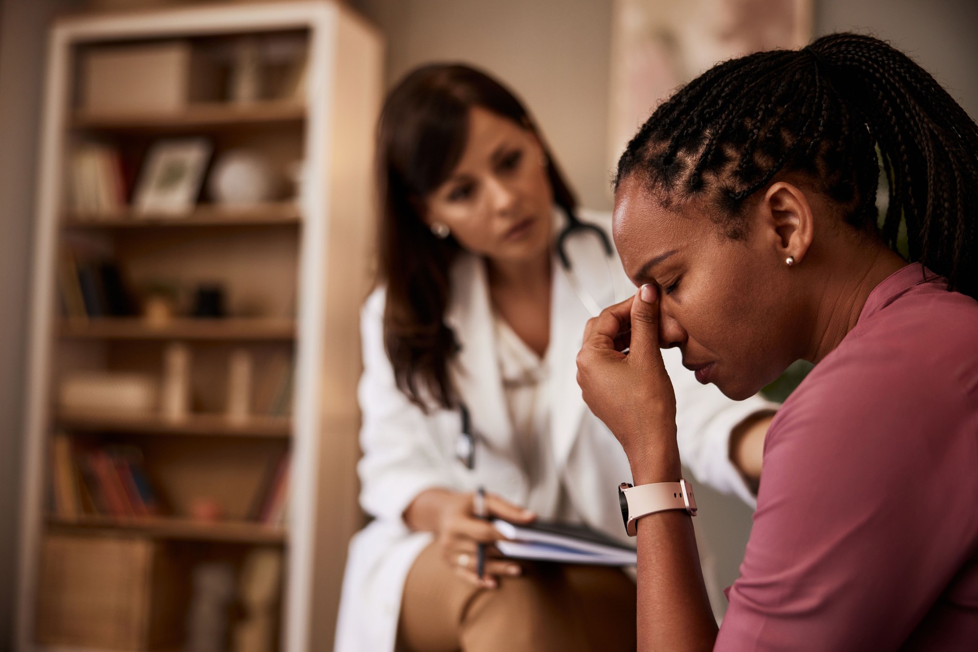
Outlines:
[[678,87],[722,61],[812,38],[812,0],[615,0],[611,26],[611,169]]

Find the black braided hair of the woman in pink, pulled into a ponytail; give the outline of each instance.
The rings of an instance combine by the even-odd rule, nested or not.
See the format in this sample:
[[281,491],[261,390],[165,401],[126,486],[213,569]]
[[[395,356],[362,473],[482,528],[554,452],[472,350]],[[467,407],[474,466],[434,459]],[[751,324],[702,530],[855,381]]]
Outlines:
[[870,36],[831,34],[707,70],[648,118],[615,188],[641,175],[665,206],[701,199],[743,239],[748,202],[782,172],[808,176],[845,222],[894,250],[905,222],[911,261],[976,296],[978,127],[926,70]]

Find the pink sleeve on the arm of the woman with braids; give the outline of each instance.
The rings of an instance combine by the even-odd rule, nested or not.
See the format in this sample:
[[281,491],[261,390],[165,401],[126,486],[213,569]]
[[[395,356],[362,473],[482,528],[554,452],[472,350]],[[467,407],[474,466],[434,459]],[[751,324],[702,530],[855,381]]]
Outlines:
[[716,650],[896,649],[970,554],[973,409],[895,358],[817,368],[778,414]]

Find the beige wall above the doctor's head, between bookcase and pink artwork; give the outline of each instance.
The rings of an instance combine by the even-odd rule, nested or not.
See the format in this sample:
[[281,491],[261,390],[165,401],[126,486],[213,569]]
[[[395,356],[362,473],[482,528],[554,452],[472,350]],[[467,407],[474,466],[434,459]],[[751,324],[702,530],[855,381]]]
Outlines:
[[[582,203],[610,208],[604,152],[609,0],[354,0],[387,40],[387,80],[416,65],[478,65],[542,126]],[[597,155],[596,155],[597,154]]]

